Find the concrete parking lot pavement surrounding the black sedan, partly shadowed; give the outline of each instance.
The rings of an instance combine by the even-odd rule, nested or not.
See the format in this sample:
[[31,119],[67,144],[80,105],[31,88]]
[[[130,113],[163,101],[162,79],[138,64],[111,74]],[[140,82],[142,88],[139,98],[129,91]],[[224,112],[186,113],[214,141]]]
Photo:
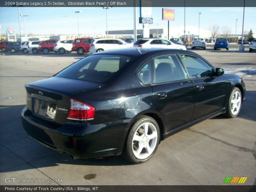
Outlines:
[[[248,177],[245,184],[256,185],[256,52],[193,51],[243,76],[246,100],[240,114],[217,116],[176,133],[160,143],[148,162],[137,165],[120,156],[72,160],[36,143],[22,128],[24,84],[52,76],[84,56],[0,52],[0,184],[221,185],[226,177]],[[41,181],[6,183],[5,178]]]

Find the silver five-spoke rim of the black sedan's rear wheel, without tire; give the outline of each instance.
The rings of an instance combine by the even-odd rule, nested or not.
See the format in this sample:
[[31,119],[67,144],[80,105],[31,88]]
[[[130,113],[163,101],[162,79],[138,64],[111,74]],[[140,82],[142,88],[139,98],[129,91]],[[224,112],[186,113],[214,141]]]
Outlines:
[[157,145],[157,130],[154,124],[140,124],[132,137],[132,152],[138,159],[146,159]]

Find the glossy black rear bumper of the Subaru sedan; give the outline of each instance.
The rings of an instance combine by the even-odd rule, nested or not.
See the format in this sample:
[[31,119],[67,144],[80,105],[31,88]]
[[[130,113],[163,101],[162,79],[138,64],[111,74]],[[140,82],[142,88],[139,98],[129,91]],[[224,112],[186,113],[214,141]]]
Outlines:
[[54,125],[24,108],[21,121],[27,134],[40,144],[74,158],[120,155],[130,120],[108,124],[65,123]]

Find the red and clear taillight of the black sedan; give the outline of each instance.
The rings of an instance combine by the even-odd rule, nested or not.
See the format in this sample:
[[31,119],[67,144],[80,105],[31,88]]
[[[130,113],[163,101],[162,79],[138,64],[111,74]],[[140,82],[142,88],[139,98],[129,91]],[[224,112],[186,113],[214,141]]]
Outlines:
[[72,120],[92,120],[95,114],[95,108],[91,105],[76,99],[70,99],[71,106],[68,113],[68,119]]

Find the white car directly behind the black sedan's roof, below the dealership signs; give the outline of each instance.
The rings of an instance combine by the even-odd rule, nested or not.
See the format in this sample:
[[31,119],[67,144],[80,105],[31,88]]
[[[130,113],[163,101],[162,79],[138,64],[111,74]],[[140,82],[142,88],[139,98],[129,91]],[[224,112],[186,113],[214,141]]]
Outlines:
[[159,39],[159,38],[141,38],[138,39],[134,44],[133,47],[142,47],[142,48],[168,48],[168,49],[181,49],[187,50],[184,45],[178,45],[168,41],[166,39]]

